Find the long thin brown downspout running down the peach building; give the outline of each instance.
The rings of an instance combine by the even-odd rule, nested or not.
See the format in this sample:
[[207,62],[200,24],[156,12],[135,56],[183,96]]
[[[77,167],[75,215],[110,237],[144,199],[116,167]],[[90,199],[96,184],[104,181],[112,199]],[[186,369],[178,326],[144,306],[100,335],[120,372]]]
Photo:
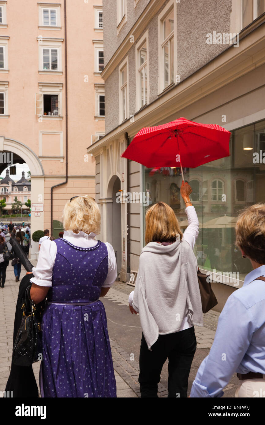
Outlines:
[[65,50],[65,93],[66,93],[66,181],[51,187],[51,235],[53,229],[53,189],[68,182],[68,97],[67,97],[67,39],[66,39],[66,0],[64,0],[64,50]]

